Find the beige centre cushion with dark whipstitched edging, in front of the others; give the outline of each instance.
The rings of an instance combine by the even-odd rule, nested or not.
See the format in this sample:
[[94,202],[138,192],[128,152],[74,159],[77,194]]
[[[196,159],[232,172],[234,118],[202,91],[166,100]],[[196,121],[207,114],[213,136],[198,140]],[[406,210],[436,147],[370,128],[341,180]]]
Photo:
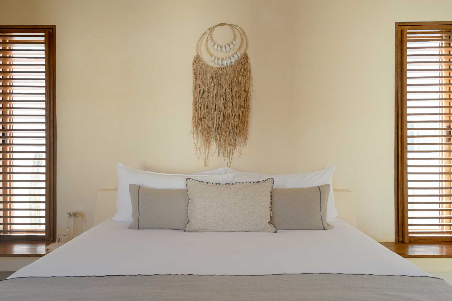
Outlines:
[[273,179],[217,184],[188,178],[185,232],[276,232],[272,219]]

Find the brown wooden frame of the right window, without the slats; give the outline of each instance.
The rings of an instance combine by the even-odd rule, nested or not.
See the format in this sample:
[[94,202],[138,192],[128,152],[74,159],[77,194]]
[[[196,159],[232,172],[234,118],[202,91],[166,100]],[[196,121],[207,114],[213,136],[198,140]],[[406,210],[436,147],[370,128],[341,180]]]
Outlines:
[[[408,192],[407,192],[407,161],[406,161],[406,144],[407,144],[407,126],[406,126],[406,110],[407,105],[404,102],[403,93],[406,85],[401,85],[400,78],[406,73],[404,58],[400,57],[402,52],[402,29],[406,26],[438,26],[452,25],[451,22],[396,22],[395,23],[395,153],[394,153],[394,207],[395,207],[395,227],[394,239],[400,242],[409,242],[408,231]],[[425,28],[428,29],[428,28]],[[399,89],[400,87],[400,89]],[[402,121],[402,122],[401,122]],[[451,180],[452,181],[452,180]],[[452,211],[452,209],[451,209]],[[411,241],[451,241],[449,237],[411,237]]]

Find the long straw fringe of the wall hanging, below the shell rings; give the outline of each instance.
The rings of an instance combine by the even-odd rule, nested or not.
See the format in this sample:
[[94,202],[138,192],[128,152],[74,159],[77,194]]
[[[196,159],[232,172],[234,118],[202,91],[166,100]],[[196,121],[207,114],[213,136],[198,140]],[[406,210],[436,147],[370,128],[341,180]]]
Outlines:
[[[212,144],[231,166],[249,139],[251,66],[246,52],[233,65],[213,67],[193,59],[193,140],[204,166]],[[239,155],[239,156],[240,156]]]

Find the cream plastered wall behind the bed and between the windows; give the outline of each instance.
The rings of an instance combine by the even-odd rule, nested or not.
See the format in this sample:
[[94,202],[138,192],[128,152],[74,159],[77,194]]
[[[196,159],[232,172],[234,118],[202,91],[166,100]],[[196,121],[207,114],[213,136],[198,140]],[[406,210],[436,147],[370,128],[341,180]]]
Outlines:
[[[93,224],[116,163],[201,171],[190,136],[191,62],[202,31],[250,38],[251,140],[233,168],[336,166],[358,228],[394,238],[394,22],[450,21],[452,1],[0,0],[0,23],[56,25],[58,232]],[[209,168],[224,165],[212,158]]]

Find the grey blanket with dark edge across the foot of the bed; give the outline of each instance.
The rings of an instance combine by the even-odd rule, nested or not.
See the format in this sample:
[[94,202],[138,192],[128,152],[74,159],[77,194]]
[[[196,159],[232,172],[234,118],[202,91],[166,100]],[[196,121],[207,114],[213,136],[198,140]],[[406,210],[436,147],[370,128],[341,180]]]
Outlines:
[[419,300],[449,301],[443,279],[355,274],[263,276],[137,275],[15,278],[0,300]]

